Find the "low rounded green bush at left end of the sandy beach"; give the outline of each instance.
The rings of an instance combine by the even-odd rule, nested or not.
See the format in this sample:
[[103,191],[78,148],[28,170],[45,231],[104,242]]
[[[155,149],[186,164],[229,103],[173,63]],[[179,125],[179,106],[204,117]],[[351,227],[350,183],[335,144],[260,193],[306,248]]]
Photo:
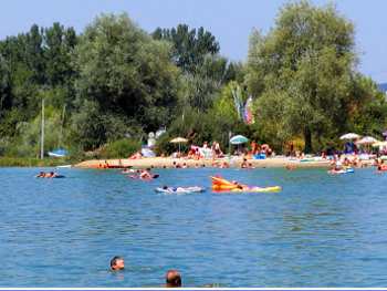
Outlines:
[[142,143],[136,139],[122,138],[108,143],[102,150],[102,158],[126,158],[142,148]]

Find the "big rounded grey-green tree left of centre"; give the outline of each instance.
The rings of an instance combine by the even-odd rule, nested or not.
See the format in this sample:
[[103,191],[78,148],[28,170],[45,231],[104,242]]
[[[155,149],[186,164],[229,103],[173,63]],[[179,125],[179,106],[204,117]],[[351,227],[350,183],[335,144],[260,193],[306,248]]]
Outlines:
[[145,131],[171,121],[179,71],[170,62],[170,45],[151,39],[126,14],[96,18],[81,37],[74,62],[80,100],[96,102],[104,113]]

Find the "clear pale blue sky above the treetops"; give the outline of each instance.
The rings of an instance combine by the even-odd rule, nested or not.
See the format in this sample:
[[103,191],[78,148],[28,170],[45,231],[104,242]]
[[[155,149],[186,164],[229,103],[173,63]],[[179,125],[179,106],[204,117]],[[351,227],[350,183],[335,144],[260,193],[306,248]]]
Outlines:
[[[245,61],[253,28],[266,33],[274,25],[285,0],[12,0],[0,9],[0,39],[25,32],[33,23],[50,27],[60,22],[80,33],[101,13],[127,12],[144,30],[172,28],[187,23],[203,27],[219,41],[220,53],[233,61]],[[387,1],[312,0],[330,2],[355,24],[359,71],[376,82],[387,82]]]

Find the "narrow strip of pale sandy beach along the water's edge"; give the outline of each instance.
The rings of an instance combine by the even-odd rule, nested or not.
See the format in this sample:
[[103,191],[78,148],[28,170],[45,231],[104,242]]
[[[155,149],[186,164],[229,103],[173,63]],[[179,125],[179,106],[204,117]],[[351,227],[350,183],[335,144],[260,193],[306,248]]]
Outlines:
[[[171,157],[149,157],[140,159],[91,159],[79,163],[74,167],[79,168],[103,168],[103,165],[107,163],[113,167],[134,167],[134,168],[164,168],[174,167],[174,162],[182,165],[187,164],[188,167],[212,167],[215,162],[228,162],[230,167],[240,167],[242,163],[242,157],[231,157],[222,159],[186,159],[186,158],[171,158]],[[248,159],[255,168],[269,168],[269,167],[285,167],[292,165],[296,168],[315,168],[315,167],[330,167],[328,160],[306,160],[302,162],[300,159],[290,159],[287,157],[273,157],[266,159]]]

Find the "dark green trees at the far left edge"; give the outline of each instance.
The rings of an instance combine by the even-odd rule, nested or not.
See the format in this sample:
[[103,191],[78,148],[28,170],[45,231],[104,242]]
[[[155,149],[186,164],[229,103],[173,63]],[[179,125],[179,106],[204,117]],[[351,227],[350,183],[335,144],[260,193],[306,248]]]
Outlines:
[[[46,29],[34,24],[28,33],[0,42],[0,70],[6,70],[0,79],[0,115],[6,124],[12,116],[19,116],[20,123],[30,122],[39,114],[42,97],[53,96],[52,104],[57,107],[72,103],[70,56],[75,39],[73,29],[54,23]],[[3,124],[0,128],[3,131]],[[8,127],[7,134],[15,135],[13,128]]]

